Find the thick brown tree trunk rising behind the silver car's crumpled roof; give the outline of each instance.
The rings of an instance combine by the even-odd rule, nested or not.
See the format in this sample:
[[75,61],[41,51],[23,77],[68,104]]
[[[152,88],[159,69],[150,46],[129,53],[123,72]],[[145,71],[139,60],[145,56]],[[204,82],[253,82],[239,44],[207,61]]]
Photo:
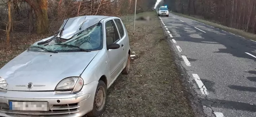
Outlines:
[[25,0],[31,5],[36,17],[36,33],[45,34],[48,32],[47,0]]

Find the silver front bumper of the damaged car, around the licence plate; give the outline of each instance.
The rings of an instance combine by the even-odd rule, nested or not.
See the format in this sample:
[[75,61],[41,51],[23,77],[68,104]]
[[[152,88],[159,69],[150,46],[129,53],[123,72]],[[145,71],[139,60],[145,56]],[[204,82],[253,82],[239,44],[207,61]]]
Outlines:
[[[70,92],[0,92],[0,116],[2,117],[82,117],[93,109],[98,82],[84,85],[76,94]],[[47,101],[49,111],[9,110],[9,101]]]

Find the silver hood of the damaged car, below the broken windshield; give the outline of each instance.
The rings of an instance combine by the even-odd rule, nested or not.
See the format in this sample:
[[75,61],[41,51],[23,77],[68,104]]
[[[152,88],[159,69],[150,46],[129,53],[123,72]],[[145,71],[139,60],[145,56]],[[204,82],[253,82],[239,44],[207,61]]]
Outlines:
[[[52,91],[62,79],[79,76],[97,53],[24,51],[0,69],[0,77],[6,79],[8,90]],[[28,89],[30,82],[38,86]]]

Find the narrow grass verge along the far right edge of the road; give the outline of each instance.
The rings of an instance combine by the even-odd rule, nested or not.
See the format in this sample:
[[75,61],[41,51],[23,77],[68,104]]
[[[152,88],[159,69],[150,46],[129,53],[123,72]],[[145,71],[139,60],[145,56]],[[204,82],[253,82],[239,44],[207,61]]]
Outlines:
[[243,30],[227,27],[227,26],[224,26],[224,25],[221,25],[219,23],[212,22],[212,21],[207,21],[207,20],[204,20],[204,19],[196,18],[196,16],[188,16],[188,15],[181,14],[181,13],[176,13],[176,12],[171,12],[171,13],[173,13],[175,15],[180,15],[182,17],[186,17],[186,18],[189,18],[189,19],[193,19],[195,21],[199,21],[199,22],[204,23],[204,24],[208,24],[208,25],[211,25],[211,26],[216,27],[216,28],[220,28],[222,30],[225,30],[225,31],[243,36],[247,39],[256,40],[256,34],[253,34],[253,33],[249,33],[249,32],[245,32]]

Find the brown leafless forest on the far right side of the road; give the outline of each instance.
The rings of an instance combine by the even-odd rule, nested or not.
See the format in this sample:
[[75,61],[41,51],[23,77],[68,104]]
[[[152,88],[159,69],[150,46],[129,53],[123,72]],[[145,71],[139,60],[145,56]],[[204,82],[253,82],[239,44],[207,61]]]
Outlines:
[[164,0],[174,12],[256,34],[256,0]]

